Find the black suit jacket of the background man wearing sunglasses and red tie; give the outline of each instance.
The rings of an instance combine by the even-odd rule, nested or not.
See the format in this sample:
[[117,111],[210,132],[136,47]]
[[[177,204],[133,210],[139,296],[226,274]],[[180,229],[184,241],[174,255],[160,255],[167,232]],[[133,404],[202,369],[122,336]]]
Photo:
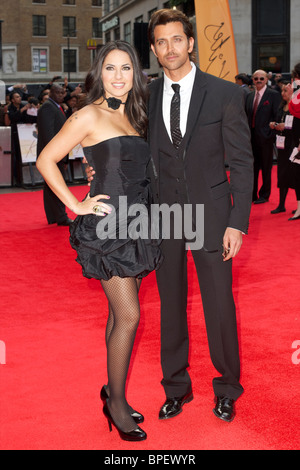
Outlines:
[[[246,113],[249,127],[252,127],[253,101],[255,92],[246,97]],[[274,139],[275,132],[270,129],[270,122],[276,120],[276,115],[281,102],[278,91],[266,88],[255,115],[255,135],[262,141]]]

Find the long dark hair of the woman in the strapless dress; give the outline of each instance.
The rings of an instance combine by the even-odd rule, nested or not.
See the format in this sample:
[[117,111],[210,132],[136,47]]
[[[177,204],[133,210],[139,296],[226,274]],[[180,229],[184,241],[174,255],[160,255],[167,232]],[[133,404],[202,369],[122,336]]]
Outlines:
[[103,62],[106,56],[116,49],[126,52],[133,65],[133,87],[128,94],[125,113],[132,127],[139,135],[146,138],[148,126],[146,111],[148,97],[147,80],[143,74],[136,50],[128,42],[120,40],[112,41],[105,44],[99,50],[85,79],[86,97],[84,104],[92,104],[99,98],[104,97],[105,90],[101,78]]

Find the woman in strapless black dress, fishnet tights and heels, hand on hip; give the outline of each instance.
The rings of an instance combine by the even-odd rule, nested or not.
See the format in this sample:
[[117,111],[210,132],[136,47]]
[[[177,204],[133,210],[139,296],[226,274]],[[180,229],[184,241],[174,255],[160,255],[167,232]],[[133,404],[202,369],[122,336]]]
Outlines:
[[[83,275],[99,279],[109,302],[106,328],[108,385],[101,390],[103,413],[124,440],[141,441],[143,416],[126,401],[125,385],[139,323],[141,279],[161,262],[159,243],[138,236],[130,207],[146,210],[149,222],[150,162],[146,142],[147,88],[135,50],[124,41],[106,44],[85,82],[86,105],[73,114],[43,150],[38,169],[57,196],[78,217],[70,227]],[[90,194],[79,202],[57,169],[81,143],[96,169]],[[128,210],[127,210],[128,208]]]

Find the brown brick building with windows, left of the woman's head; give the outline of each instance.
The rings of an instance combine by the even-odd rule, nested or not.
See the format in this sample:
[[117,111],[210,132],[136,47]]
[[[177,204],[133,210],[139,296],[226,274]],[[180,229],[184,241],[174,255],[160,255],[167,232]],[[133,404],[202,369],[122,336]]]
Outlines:
[[80,81],[102,44],[102,0],[1,2],[2,70],[9,82]]

